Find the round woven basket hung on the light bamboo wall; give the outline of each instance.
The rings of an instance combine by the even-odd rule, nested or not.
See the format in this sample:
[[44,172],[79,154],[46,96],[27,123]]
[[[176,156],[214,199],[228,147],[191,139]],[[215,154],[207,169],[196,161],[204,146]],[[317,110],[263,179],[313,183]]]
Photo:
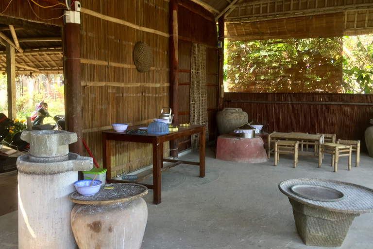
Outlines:
[[145,42],[139,41],[134,48],[134,63],[140,72],[146,72],[153,63],[152,48]]

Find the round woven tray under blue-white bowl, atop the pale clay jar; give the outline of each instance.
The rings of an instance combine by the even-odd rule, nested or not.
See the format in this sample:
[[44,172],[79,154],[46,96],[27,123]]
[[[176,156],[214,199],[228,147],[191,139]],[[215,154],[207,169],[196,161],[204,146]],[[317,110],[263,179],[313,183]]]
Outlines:
[[145,196],[148,188],[136,183],[103,184],[95,195],[82,196],[77,191],[71,193],[68,199],[78,204],[115,205]]

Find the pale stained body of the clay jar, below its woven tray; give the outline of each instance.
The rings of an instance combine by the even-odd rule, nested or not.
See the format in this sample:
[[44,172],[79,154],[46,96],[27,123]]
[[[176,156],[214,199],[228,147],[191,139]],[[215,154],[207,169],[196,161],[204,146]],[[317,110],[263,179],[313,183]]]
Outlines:
[[71,228],[79,249],[140,249],[147,219],[143,198],[115,205],[77,204]]

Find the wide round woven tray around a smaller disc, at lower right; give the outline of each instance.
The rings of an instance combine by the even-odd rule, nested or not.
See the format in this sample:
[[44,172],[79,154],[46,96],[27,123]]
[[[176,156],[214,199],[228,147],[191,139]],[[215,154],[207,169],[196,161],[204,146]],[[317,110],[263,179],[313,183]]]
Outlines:
[[[332,188],[343,193],[339,201],[316,201],[294,194],[291,187],[299,184],[316,185]],[[307,206],[340,213],[373,213],[373,189],[336,180],[301,178],[290,179],[278,184],[280,191],[289,198]]]

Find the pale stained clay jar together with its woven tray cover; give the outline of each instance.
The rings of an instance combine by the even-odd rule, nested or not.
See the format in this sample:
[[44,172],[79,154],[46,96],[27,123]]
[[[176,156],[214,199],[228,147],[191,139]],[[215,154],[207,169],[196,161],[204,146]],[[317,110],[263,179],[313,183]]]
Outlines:
[[[141,248],[148,220],[148,207],[144,199],[140,198],[145,192],[137,189],[137,193],[131,194],[123,185],[124,183],[109,184],[114,187],[113,193],[102,186],[97,197],[82,197],[79,194],[69,196],[75,203],[87,203],[75,205],[71,212],[71,228],[79,249]],[[108,185],[105,186],[107,188]],[[130,197],[126,198],[125,195]]]

